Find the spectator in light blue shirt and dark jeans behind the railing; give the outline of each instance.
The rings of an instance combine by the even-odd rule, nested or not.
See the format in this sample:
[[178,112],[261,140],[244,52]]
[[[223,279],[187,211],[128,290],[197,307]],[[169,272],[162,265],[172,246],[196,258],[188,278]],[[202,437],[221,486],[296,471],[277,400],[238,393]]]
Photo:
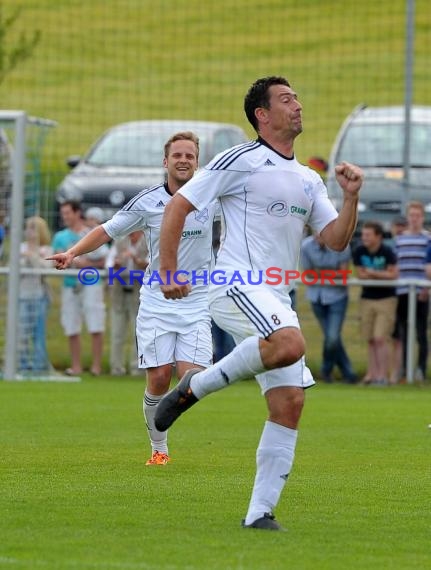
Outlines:
[[[315,234],[307,237],[302,244],[302,268],[321,271],[323,269],[347,269],[351,259],[348,246],[338,252],[329,249],[323,239]],[[345,286],[310,285],[307,287],[307,299],[322,330],[323,352],[321,376],[325,382],[332,382],[332,372],[338,366],[346,383],[353,384],[357,377],[344,348],[341,331],[349,302],[348,289]]]

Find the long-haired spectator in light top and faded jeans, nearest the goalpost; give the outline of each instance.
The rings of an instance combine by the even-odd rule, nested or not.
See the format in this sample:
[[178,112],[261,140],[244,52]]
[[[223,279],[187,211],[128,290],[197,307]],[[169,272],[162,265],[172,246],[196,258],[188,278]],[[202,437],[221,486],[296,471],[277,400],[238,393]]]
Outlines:
[[[25,223],[25,241],[20,247],[21,267],[50,267],[51,235],[46,221],[39,216]],[[50,293],[41,275],[24,274],[19,288],[19,369],[46,372],[51,369],[46,349],[46,319]]]

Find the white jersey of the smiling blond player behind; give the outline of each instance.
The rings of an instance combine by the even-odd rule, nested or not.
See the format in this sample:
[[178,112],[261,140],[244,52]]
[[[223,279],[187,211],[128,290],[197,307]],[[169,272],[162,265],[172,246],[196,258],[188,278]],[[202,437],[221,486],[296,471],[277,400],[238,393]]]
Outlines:
[[[188,323],[190,317],[208,311],[208,281],[212,261],[212,227],[216,202],[208,203],[199,211],[191,212],[182,232],[178,250],[178,270],[186,271],[179,278],[189,279],[192,292],[183,299],[165,299],[160,291],[158,278],[160,262],[160,227],[165,206],[172,199],[167,184],[160,184],[143,190],[132,198],[122,210],[103,224],[109,237],[118,239],[133,231],[143,230],[149,251],[149,265],[145,272],[141,287],[141,305],[167,322],[175,319],[178,326]],[[197,278],[193,283],[193,275],[205,274],[206,283]],[[121,273],[119,274],[121,277]]]

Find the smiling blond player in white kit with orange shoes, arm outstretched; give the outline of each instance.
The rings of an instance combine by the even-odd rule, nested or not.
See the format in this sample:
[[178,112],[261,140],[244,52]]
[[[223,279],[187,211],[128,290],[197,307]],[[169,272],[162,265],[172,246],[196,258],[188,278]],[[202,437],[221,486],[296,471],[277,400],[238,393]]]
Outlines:
[[[199,140],[193,133],[173,135],[165,145],[167,182],[143,190],[111,220],[95,228],[66,253],[51,258],[57,262],[58,269],[65,269],[74,257],[88,253],[102,243],[136,230],[145,233],[149,265],[140,291],[136,338],[138,365],[147,373],[143,409],[152,448],[147,465],[166,465],[169,461],[167,431],[156,429],[154,414],[159,400],[169,390],[172,365],[175,364],[181,377],[190,368],[204,368],[212,362],[208,273],[216,202],[190,213],[182,230],[178,269],[188,272],[195,281],[193,293],[175,301],[165,299],[160,291],[158,273],[160,226],[165,206],[192,178],[198,167],[198,157]],[[122,278],[121,272],[114,273],[113,278],[115,276]]]

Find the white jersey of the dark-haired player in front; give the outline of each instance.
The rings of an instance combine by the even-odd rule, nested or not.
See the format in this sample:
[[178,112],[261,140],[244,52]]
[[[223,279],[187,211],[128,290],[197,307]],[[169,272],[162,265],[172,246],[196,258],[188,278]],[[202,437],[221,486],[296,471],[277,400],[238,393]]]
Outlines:
[[[218,154],[179,192],[197,210],[220,201],[216,270],[228,278],[225,286],[210,284],[210,301],[221,290],[241,285],[241,279],[255,284],[262,279],[274,293],[286,294],[293,281],[285,283],[284,272],[297,269],[304,225],[320,232],[338,215],[320,176],[262,139]],[[272,274],[280,279],[268,278],[270,268],[277,269]],[[221,280],[213,275],[214,281]],[[267,280],[281,283],[269,285]]]

